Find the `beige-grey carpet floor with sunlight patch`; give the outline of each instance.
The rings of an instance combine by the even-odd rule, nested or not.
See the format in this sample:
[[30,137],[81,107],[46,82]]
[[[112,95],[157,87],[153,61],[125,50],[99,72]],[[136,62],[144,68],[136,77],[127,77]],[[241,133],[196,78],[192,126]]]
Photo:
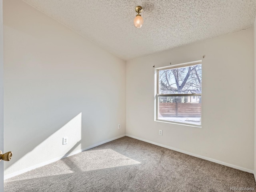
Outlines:
[[253,174],[129,137],[4,182],[5,192],[228,192],[230,187],[256,190]]

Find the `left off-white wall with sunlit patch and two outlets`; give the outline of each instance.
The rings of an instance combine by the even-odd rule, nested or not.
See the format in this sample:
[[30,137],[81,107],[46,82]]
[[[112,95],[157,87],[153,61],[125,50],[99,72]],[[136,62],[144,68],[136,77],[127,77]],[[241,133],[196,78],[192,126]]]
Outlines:
[[125,134],[125,84],[123,60],[4,0],[5,175]]

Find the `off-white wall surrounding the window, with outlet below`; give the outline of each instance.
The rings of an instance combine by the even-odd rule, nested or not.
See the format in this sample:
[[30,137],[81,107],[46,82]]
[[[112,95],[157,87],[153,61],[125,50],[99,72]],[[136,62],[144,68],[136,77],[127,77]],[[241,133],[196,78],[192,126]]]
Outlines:
[[[253,29],[130,60],[126,134],[254,169]],[[154,122],[154,68],[202,62],[202,128]],[[163,130],[163,136],[158,130]]]

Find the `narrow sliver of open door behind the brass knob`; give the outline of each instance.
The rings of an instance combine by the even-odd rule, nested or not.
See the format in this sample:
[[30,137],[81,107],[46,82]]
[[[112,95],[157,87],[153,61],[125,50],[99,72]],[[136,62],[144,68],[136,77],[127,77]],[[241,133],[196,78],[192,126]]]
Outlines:
[[[0,150],[2,151],[4,151],[3,55],[3,0],[0,0]],[[4,192],[4,161],[0,161],[0,192]]]

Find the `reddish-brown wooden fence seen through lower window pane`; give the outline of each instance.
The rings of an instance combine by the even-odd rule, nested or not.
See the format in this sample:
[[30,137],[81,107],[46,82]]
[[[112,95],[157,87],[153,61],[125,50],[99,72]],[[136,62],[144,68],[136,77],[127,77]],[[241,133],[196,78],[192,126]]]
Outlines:
[[201,103],[159,103],[162,117],[200,117]]

